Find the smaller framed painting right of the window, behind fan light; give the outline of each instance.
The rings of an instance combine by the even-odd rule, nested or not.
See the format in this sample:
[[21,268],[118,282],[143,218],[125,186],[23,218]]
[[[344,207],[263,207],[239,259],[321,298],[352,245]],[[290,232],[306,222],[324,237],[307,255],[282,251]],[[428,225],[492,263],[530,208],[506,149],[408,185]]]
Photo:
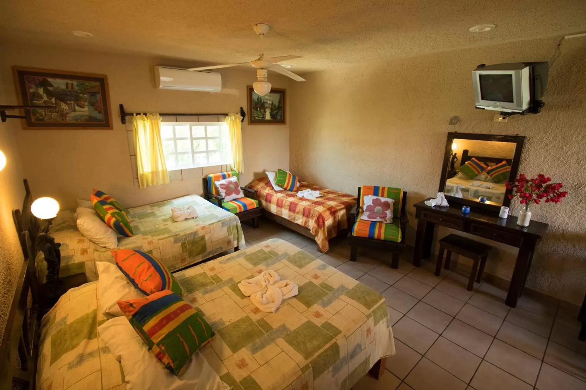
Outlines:
[[284,125],[287,124],[287,90],[271,88],[261,96],[248,85],[248,124]]

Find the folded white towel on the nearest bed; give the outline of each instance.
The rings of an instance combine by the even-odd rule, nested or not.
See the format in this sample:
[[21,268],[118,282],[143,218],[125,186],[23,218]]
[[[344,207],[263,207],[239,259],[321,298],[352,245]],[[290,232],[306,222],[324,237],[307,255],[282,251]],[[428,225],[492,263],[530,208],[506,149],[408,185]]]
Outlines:
[[238,283],[240,291],[263,312],[274,313],[283,299],[297,295],[297,285],[290,280],[281,280],[275,271],[264,271],[252,279]]

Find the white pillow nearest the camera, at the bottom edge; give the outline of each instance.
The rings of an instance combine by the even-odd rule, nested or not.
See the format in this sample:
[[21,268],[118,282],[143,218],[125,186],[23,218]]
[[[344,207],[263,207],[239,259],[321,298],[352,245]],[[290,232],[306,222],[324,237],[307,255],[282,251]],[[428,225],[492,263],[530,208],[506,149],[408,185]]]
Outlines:
[[173,375],[148,350],[126,317],[105,321],[98,326],[98,334],[120,361],[127,390],[230,390],[199,352],[185,364],[181,375]]

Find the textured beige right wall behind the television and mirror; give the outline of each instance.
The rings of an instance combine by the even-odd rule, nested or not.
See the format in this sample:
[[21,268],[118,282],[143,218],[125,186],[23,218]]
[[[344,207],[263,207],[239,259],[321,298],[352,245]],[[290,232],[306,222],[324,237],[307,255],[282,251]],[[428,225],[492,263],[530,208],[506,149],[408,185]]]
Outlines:
[[[471,83],[477,64],[548,60],[557,40],[305,74],[308,81],[290,88],[291,170],[302,180],[349,193],[361,184],[403,187],[409,191],[407,240],[413,243],[412,205],[437,193],[447,132],[524,135],[520,172],[551,175],[570,193],[563,203],[533,207],[534,219],[550,229],[527,284],[579,303],[586,286],[586,189],[580,168],[586,160],[586,39],[563,43],[539,115],[495,123],[495,112],[474,108]],[[448,125],[454,115],[461,121]],[[513,208],[513,214],[518,211]],[[515,255],[515,248],[499,245],[487,271],[510,279]]]

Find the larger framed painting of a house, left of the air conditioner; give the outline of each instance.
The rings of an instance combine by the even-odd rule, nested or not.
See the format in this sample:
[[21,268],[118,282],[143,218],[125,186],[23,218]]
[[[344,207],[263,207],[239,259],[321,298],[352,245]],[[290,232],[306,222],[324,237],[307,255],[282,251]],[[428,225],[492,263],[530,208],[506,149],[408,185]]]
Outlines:
[[104,74],[12,67],[25,110],[26,129],[112,129],[108,77]]

